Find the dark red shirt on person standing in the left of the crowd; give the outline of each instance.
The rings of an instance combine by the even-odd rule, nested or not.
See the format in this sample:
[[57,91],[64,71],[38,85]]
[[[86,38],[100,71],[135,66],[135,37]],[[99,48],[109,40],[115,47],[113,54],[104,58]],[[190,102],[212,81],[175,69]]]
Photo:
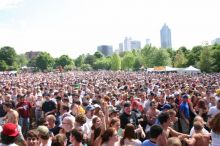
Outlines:
[[32,108],[31,103],[28,101],[19,102],[17,104],[17,108],[22,107],[22,109],[18,110],[19,115],[22,118],[29,118],[30,117],[30,109]]

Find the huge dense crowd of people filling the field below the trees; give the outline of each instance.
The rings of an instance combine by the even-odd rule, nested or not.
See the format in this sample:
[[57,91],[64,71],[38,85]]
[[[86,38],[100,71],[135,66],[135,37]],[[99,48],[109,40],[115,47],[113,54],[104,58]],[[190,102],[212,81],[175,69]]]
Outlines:
[[220,74],[0,75],[0,146],[220,146]]

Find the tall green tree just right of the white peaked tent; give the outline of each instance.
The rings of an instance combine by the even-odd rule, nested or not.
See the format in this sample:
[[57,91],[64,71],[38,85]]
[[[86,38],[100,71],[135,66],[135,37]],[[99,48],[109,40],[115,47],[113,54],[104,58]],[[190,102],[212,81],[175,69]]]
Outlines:
[[211,64],[212,64],[211,49],[205,47],[200,55],[199,67],[203,72],[211,72]]

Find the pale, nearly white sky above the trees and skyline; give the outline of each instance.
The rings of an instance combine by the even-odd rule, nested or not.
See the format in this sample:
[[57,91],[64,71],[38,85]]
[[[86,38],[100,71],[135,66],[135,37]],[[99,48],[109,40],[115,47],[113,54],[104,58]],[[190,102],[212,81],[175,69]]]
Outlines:
[[114,49],[131,36],[160,47],[160,29],[171,28],[174,48],[220,37],[218,0],[0,0],[0,47],[54,57]]

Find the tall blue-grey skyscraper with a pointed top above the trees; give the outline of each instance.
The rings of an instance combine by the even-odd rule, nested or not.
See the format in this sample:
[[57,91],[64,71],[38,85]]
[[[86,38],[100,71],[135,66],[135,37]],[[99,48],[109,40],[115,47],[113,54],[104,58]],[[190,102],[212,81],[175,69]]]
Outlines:
[[172,48],[171,30],[166,24],[160,30],[160,42],[161,48]]

